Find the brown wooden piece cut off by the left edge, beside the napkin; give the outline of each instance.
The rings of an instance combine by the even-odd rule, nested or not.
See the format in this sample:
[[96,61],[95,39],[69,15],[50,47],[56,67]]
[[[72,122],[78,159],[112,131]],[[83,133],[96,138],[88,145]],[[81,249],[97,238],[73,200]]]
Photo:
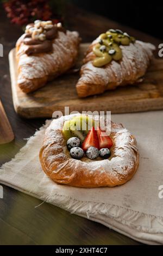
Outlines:
[[13,141],[14,133],[0,100],[0,144]]

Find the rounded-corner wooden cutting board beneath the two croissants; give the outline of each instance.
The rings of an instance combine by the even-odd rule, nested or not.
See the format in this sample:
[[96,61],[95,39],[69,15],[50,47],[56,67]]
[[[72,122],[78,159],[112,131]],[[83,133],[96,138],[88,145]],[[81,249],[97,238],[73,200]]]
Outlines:
[[[77,67],[82,64],[89,44],[80,45]],[[163,109],[163,59],[154,59],[145,80],[137,86],[126,86],[102,95],[79,99],[76,83],[79,72],[65,74],[34,93],[24,94],[17,86],[15,49],[9,53],[12,97],[15,111],[25,118],[52,117],[54,111],[111,111],[112,113],[140,112]]]

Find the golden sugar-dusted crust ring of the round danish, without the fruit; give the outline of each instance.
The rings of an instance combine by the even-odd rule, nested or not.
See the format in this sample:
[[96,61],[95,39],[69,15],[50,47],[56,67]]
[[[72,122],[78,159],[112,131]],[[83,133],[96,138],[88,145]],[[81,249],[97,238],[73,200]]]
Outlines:
[[73,116],[54,119],[47,128],[40,149],[44,172],[55,182],[77,187],[114,187],[130,180],[139,166],[139,151],[134,135],[122,124],[111,122],[110,137],[114,143],[111,160],[72,159],[66,150],[62,126],[64,120],[70,120]]

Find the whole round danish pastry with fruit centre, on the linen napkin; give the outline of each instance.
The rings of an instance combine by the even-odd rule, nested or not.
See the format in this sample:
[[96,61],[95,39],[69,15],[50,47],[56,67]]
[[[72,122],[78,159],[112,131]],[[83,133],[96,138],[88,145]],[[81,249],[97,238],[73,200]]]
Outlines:
[[[111,121],[110,135],[102,136],[101,127],[95,129],[98,119],[77,114],[52,121],[40,149],[41,166],[49,178],[77,187],[114,187],[132,178],[139,166],[134,135]],[[78,129],[83,123],[85,129]]]

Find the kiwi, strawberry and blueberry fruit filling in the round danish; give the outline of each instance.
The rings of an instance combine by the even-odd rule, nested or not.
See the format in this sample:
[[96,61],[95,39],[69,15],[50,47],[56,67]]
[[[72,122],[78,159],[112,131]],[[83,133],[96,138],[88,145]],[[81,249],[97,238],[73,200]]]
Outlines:
[[65,121],[62,133],[73,159],[109,159],[111,156],[112,139],[87,115]]

